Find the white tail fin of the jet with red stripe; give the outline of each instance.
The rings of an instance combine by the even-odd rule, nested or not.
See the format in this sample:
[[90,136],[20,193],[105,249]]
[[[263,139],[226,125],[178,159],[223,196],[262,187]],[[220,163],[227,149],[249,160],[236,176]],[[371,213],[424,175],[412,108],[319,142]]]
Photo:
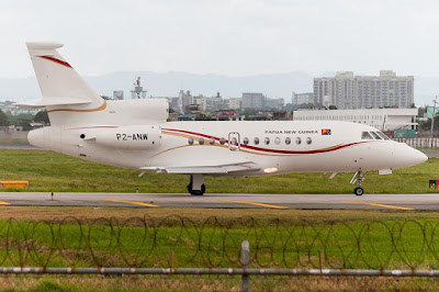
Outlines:
[[104,100],[58,54],[56,49],[63,47],[63,44],[27,43],[26,45],[43,94],[43,100],[33,106],[49,106],[47,110],[57,110],[59,105],[68,105],[69,109],[87,110],[104,103]]

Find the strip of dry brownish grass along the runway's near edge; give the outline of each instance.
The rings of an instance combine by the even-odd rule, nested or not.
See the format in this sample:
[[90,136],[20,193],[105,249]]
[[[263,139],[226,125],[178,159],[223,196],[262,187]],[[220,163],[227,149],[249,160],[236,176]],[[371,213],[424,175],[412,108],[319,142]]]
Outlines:
[[[20,195],[20,194],[18,194]],[[313,224],[367,223],[373,221],[435,220],[439,212],[398,210],[271,210],[271,209],[195,209],[195,207],[92,207],[92,206],[0,206],[0,220],[15,217],[20,221],[52,221],[54,218],[78,217],[89,221],[114,218],[125,222],[131,217],[149,217],[164,221],[179,215],[194,224],[202,224],[211,217],[236,221],[243,217],[257,218],[260,226],[272,225],[275,221],[290,224],[308,222]]]

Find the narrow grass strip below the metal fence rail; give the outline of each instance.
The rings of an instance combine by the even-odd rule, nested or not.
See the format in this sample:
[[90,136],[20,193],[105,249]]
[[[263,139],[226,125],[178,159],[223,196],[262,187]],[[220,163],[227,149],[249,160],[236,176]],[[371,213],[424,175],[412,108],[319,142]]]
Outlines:
[[[2,291],[241,291],[238,277],[161,278],[161,277],[8,277],[0,282]],[[251,277],[249,291],[437,291],[432,279],[401,278],[323,278]]]

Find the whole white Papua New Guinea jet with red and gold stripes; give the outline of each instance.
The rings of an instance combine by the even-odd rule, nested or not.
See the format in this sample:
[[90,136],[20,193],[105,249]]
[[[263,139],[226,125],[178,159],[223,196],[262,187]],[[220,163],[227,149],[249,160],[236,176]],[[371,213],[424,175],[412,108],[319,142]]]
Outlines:
[[192,195],[204,177],[291,172],[392,173],[427,160],[379,130],[339,121],[168,122],[164,99],[102,99],[58,53],[63,44],[27,43],[43,99],[19,106],[45,108],[50,126],[29,133],[31,145],[74,157],[148,171],[190,175]]

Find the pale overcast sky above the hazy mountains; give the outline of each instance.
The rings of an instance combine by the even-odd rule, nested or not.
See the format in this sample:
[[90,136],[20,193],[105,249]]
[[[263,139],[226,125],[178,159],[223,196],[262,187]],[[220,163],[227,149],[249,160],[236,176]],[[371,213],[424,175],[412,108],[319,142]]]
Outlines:
[[439,1],[1,0],[0,77],[33,76],[56,41],[82,75],[353,70],[439,76]]

